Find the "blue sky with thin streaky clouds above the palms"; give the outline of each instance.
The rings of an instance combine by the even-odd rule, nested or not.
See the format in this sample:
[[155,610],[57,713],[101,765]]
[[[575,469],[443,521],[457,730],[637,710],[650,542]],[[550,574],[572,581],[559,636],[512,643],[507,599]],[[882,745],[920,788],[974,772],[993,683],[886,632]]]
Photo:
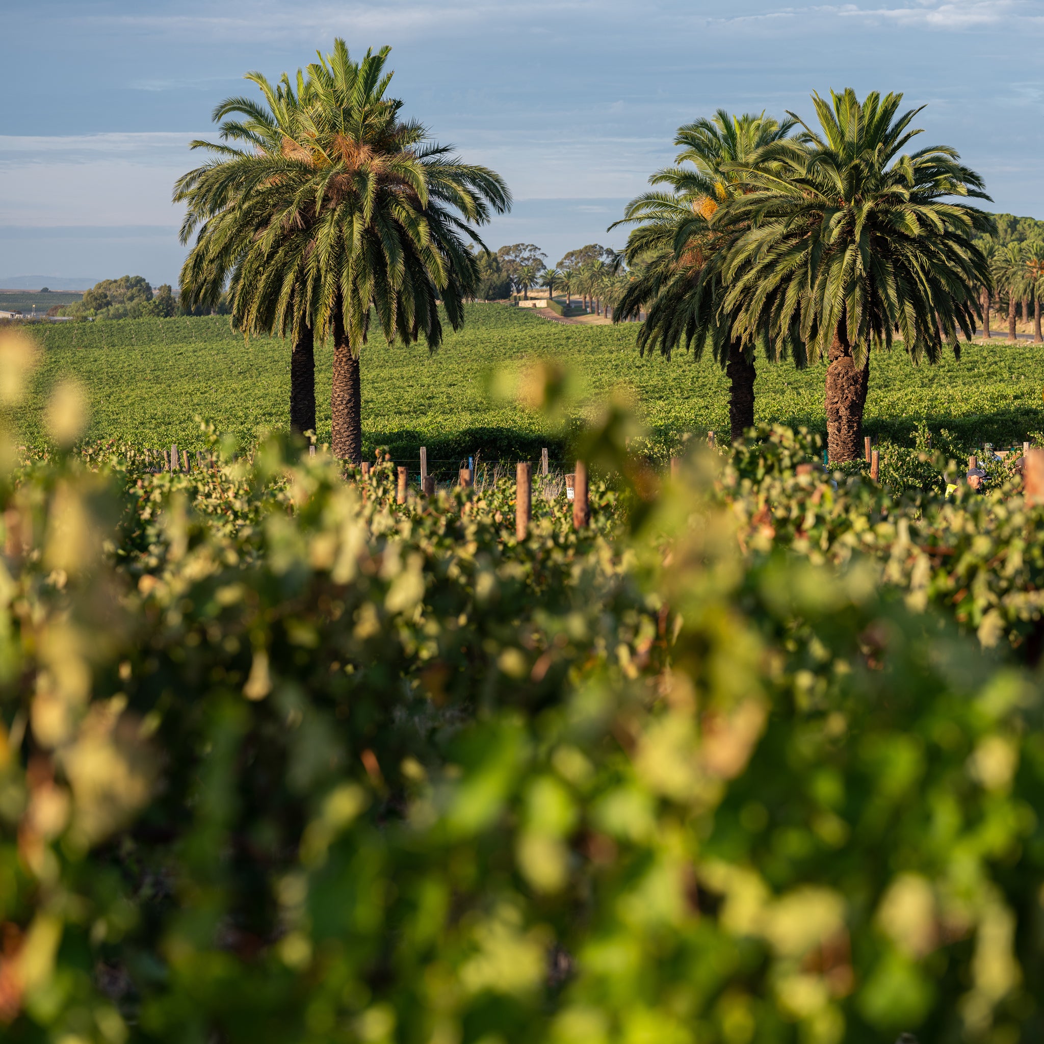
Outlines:
[[3,0],[0,286],[126,272],[176,283],[173,180],[250,69],[390,44],[393,93],[441,141],[499,170],[512,214],[491,246],[554,262],[597,241],[680,123],[725,106],[810,115],[854,87],[927,103],[994,209],[1044,218],[1044,0]]

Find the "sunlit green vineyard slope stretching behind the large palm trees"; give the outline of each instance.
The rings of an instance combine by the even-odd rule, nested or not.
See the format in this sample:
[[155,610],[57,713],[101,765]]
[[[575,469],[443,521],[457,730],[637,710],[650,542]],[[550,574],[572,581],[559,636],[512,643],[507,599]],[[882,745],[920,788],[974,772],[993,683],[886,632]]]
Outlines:
[[[495,370],[518,370],[527,358],[560,359],[582,385],[582,403],[615,386],[633,390],[654,431],[670,441],[683,431],[728,427],[727,382],[709,360],[641,359],[634,326],[552,323],[498,305],[472,306],[459,334],[434,355],[423,347],[388,347],[379,338],[363,353],[363,432],[370,447],[389,445],[416,457],[426,445],[443,459],[481,451],[509,458],[557,445],[541,418],[498,402],[488,390]],[[88,387],[91,434],[160,446],[199,444],[198,414],[253,441],[287,424],[289,349],[279,339],[243,338],[219,316],[67,324],[34,331],[45,348],[33,398],[18,418],[25,440],[45,437],[41,413],[62,374]],[[1021,441],[1044,429],[1044,350],[1029,343],[966,346],[963,360],[914,366],[901,352],[875,356],[867,403],[868,430],[908,441],[917,422],[948,428],[969,443]],[[319,438],[330,437],[329,347],[317,352]],[[824,430],[823,366],[759,364],[759,420]]]

